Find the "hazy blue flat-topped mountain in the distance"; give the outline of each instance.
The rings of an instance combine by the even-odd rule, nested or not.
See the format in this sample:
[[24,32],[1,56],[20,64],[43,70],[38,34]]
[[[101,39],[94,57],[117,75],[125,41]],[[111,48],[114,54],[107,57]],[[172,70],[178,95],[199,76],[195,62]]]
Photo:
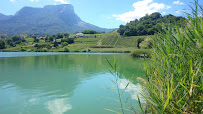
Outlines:
[[71,4],[24,7],[9,18],[0,15],[0,34],[56,34],[82,30],[110,31],[82,21]]

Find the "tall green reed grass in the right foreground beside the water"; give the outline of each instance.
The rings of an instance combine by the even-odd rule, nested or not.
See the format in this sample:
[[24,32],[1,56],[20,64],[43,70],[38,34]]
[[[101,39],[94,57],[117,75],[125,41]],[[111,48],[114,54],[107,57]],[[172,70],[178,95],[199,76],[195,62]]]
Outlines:
[[155,36],[141,106],[145,113],[203,113],[203,19],[196,0],[185,27]]

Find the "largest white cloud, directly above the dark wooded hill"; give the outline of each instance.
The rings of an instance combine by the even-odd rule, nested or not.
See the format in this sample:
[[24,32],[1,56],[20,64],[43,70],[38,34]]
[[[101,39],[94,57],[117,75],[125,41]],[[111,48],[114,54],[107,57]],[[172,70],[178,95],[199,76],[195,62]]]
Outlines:
[[152,14],[160,10],[169,9],[171,6],[165,5],[163,3],[155,3],[153,0],[142,0],[133,4],[134,11],[129,11],[124,14],[114,14],[113,17],[116,17],[116,20],[130,22],[134,19],[139,19],[145,14]]

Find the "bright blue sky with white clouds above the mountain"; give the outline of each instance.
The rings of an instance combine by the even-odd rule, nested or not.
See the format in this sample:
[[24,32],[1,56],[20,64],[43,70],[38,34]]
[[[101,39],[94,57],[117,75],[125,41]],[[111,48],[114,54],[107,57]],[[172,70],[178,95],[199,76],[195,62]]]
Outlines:
[[[139,19],[146,13],[184,16],[193,0],[0,0],[0,13],[14,15],[24,6],[72,4],[75,13],[85,22],[103,28],[118,28],[120,24]],[[203,0],[199,0],[202,5]]]

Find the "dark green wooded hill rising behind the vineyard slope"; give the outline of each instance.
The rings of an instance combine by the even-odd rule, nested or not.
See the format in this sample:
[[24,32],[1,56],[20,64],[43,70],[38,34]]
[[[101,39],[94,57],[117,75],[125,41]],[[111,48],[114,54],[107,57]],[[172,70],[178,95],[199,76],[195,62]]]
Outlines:
[[135,19],[127,23],[125,26],[120,25],[118,33],[126,36],[140,36],[140,35],[154,35],[161,30],[161,24],[165,25],[177,25],[183,26],[185,18],[175,17],[171,14],[164,17],[159,12],[152,13],[151,15],[145,15],[139,20]]

